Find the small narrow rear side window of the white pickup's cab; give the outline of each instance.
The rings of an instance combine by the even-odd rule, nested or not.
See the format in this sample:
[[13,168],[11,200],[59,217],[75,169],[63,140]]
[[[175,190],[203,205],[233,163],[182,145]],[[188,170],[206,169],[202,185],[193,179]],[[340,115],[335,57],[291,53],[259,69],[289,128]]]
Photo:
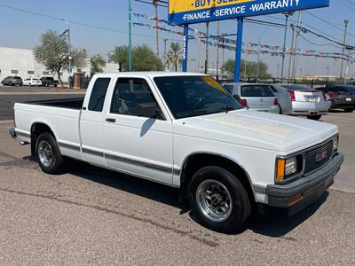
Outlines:
[[91,97],[89,101],[88,109],[90,111],[102,112],[104,108],[106,92],[110,78],[98,78],[91,90]]

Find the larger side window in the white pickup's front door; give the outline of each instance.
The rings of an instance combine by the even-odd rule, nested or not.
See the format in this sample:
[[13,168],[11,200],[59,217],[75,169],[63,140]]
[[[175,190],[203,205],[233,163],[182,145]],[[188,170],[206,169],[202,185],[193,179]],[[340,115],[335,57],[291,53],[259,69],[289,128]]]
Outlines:
[[118,79],[114,87],[114,95],[110,113],[132,116],[150,117],[143,108],[157,106],[152,90],[144,79]]

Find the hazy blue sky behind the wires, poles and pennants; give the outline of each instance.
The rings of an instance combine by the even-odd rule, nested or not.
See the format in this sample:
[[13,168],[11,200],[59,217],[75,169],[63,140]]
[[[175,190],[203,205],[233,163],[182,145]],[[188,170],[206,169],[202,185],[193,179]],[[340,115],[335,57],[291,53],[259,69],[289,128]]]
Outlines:
[[[146,0],[150,2],[150,0]],[[311,0],[308,0],[311,1]],[[355,44],[355,1],[353,0],[330,0],[330,7],[319,10],[312,10],[303,13],[304,27],[313,27],[331,35],[339,42],[343,42],[343,20],[352,19],[349,25],[349,44]],[[0,0],[0,4],[10,5],[32,12],[43,13],[49,16],[65,18],[83,22],[98,27],[106,27],[113,30],[102,28],[86,27],[79,24],[71,24],[72,43],[76,47],[85,48],[90,54],[100,53],[107,57],[108,51],[113,50],[115,45],[128,43],[128,0]],[[154,7],[150,4],[138,3],[132,0],[133,12],[143,13],[154,16]],[[159,17],[167,18],[168,10],[159,7]],[[59,32],[64,31],[66,24],[64,21],[52,20],[48,17],[37,16],[25,12],[19,12],[0,6],[0,46],[33,48],[38,42],[39,36],[46,29],[55,29]],[[314,17],[316,15],[318,18]],[[268,20],[272,22],[284,23],[284,16],[274,14],[271,16],[256,17],[257,20]],[[291,17],[297,20],[297,15]],[[326,20],[322,21],[322,20]],[[152,20],[142,20],[133,17],[133,21],[154,24]],[[294,21],[295,23],[295,21]],[[205,30],[204,24],[196,24],[192,27]],[[236,31],[236,21],[225,20],[220,22],[220,32],[232,34]],[[179,30],[178,28],[176,30]],[[266,33],[264,34],[264,32]],[[147,43],[155,49],[155,31],[145,27],[133,27],[133,44]],[[217,34],[217,22],[210,24],[210,34]],[[243,41],[257,43],[260,35],[263,35],[261,43],[270,45],[282,45],[283,28],[256,25],[245,23]],[[308,41],[300,40],[299,48],[312,49],[317,51],[341,52],[341,49],[328,45],[329,42],[313,35],[304,35]],[[163,38],[170,39],[170,42],[182,41],[179,35],[168,35],[160,33],[161,54],[163,51]],[[291,42],[291,30],[288,30],[288,46]],[[169,44],[168,44],[169,45]],[[210,65],[216,61],[217,48],[209,47]],[[204,45],[201,43],[190,43],[189,58],[204,61]],[[220,60],[222,51],[220,51]],[[232,51],[225,51],[225,59],[233,59]],[[245,59],[256,60],[256,56],[247,56]],[[276,75],[280,57],[262,56],[261,58],[269,65],[269,73]],[[288,66],[288,59],[286,60]],[[197,63],[190,62],[190,69],[196,68]],[[315,59],[299,57],[297,63],[298,73],[302,74],[327,74],[329,66],[330,74],[339,74],[340,60],[335,59]],[[286,70],[288,67],[286,67]],[[287,71],[285,72],[287,73]],[[349,74],[353,74],[355,68],[350,66]]]

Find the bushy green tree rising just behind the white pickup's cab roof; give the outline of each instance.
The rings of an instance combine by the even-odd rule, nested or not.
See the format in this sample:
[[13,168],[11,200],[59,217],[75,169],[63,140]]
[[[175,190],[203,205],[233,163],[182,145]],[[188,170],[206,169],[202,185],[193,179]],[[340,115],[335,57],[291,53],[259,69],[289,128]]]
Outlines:
[[[110,60],[119,64],[122,71],[127,71],[129,69],[128,47],[126,45],[114,47],[114,51],[111,51]],[[155,55],[147,44],[133,47],[133,71],[161,71],[163,68],[162,60]]]

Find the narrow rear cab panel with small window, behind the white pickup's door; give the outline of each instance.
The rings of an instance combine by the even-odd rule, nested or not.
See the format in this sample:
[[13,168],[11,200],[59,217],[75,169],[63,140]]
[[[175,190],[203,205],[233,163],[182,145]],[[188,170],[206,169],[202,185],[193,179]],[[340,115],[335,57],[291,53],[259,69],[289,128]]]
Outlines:
[[[106,165],[104,158],[104,138],[102,123],[104,121],[104,105],[106,92],[111,82],[110,77],[99,77],[92,81],[83,103],[80,119],[80,136],[82,143],[83,160],[97,165]],[[92,83],[91,82],[91,83]]]

